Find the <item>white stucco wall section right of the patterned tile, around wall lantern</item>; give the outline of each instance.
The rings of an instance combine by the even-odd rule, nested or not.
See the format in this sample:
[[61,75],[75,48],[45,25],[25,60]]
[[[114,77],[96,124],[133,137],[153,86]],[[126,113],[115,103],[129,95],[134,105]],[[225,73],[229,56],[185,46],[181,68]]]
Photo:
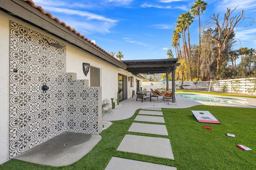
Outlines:
[[[127,80],[127,98],[132,97],[132,90],[136,91],[135,79],[141,80],[136,75],[125,71],[115,65],[108,63],[94,55],[83,51],[75,47],[74,45],[67,44],[66,54],[67,72],[77,73],[77,79],[88,79],[90,85],[90,72],[87,76],[84,75],[82,63],[90,63],[90,66],[100,68],[101,73],[101,87],[102,87],[102,99],[114,98],[116,102],[118,91],[118,73],[126,75],[127,77],[134,77],[134,87],[130,87],[130,81]],[[128,79],[128,78],[127,78]]]

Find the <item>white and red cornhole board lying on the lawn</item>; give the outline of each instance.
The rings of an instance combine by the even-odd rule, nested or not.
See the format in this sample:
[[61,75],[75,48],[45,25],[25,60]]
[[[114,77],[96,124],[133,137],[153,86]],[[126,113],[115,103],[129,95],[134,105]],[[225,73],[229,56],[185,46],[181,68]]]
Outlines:
[[209,112],[209,111],[191,111],[196,117],[196,120],[199,123],[216,123],[220,124],[220,122]]

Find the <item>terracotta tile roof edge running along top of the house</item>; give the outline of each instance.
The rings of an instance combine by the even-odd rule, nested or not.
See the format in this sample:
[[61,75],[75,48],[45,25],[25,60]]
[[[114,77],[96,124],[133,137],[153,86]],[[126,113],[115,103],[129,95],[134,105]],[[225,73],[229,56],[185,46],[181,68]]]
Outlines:
[[[79,32],[77,32],[75,29],[71,28],[70,26],[66,25],[65,22],[60,21],[58,18],[52,16],[52,14],[50,12],[46,12],[44,11],[44,9],[41,6],[35,5],[34,2],[32,0],[23,0],[24,2],[26,2],[27,4],[29,4],[30,6],[32,6],[33,8],[36,8],[38,11],[40,11],[42,14],[45,14],[46,16],[48,16],[50,19],[54,20],[55,22],[57,22],[58,24],[64,26],[65,28],[67,28],[68,30],[70,30],[71,32],[73,32],[74,34],[76,34],[77,36],[83,38],[84,40],[86,40],[87,42],[91,43],[92,45],[94,45],[95,47],[97,47],[98,49],[100,49],[102,52],[106,53],[109,57],[115,59],[116,61],[122,63],[121,61],[119,61],[118,59],[116,59],[115,57],[113,57],[110,53],[108,53],[107,51],[105,51],[104,49],[102,49],[101,47],[99,47],[98,45],[96,45],[95,43],[93,43],[92,41],[88,40],[88,38],[86,38],[84,35],[80,34]],[[126,64],[122,63],[123,65],[127,66]]]

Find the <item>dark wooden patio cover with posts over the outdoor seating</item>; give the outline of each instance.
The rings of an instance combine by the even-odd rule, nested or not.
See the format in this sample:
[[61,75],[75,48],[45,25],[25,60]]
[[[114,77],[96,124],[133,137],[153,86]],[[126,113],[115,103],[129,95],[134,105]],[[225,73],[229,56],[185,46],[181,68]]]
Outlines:
[[172,103],[175,103],[175,70],[180,65],[177,58],[172,59],[142,59],[142,60],[122,60],[128,67],[127,71],[132,74],[154,74],[166,73],[166,90],[169,90],[168,74],[172,73]]

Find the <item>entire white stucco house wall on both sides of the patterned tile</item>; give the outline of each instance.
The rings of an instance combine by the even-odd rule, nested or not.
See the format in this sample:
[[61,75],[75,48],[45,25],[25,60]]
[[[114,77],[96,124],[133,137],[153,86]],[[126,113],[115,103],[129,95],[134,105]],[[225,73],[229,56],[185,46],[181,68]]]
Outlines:
[[[127,80],[127,97],[132,97],[132,90],[136,91],[136,79],[141,79],[132,73],[120,69],[102,59],[83,51],[73,45],[70,45],[51,34],[31,26],[21,20],[18,20],[2,11],[0,11],[0,164],[9,160],[9,35],[10,20],[22,24],[32,30],[38,31],[48,37],[54,38],[67,45],[66,68],[67,72],[77,73],[77,79],[88,79],[90,85],[90,73],[87,77],[82,70],[82,63],[90,63],[91,66],[100,68],[102,99],[114,98],[116,101],[118,91],[118,73],[127,77],[134,77],[134,87],[130,87],[130,81]],[[108,50],[108,49],[106,49]]]

